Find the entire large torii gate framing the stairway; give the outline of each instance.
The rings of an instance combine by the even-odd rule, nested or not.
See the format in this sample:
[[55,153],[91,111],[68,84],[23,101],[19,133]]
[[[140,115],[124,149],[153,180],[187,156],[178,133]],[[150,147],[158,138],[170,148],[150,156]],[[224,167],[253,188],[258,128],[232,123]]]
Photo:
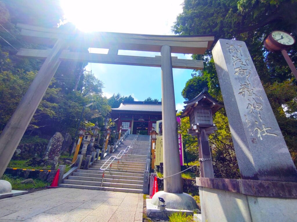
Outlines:
[[[53,46],[48,50],[20,49],[18,56],[44,59],[37,76],[24,95],[7,126],[0,135],[0,177],[3,175],[31,118],[62,60],[121,65],[161,67],[164,176],[179,173],[181,168],[176,133],[176,107],[172,68],[203,69],[203,61],[178,59],[171,53],[204,54],[210,49],[214,36],[158,36],[127,33],[69,33],[58,28],[42,28],[18,24],[25,40]],[[109,49],[108,54],[71,52],[69,46],[81,45]],[[118,50],[161,52],[161,56],[141,57],[118,55]],[[10,135],[15,135],[10,140]],[[164,191],[182,193],[181,175],[164,180]]]

